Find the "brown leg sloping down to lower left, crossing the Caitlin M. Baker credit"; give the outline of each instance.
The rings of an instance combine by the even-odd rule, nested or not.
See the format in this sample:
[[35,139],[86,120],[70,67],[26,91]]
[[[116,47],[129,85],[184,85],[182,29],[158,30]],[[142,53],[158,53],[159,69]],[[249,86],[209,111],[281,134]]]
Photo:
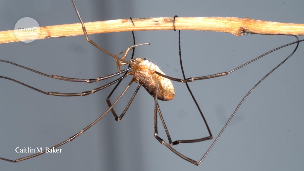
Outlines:
[[[130,85],[133,83],[133,80],[128,84],[128,86],[123,90],[123,92],[120,94],[120,96],[116,99],[116,101],[109,107],[109,109],[107,109],[100,117],[98,117],[96,120],[94,120],[94,122],[92,122],[91,124],[89,124],[87,127],[83,128],[81,131],[79,131],[77,134],[71,136],[69,139],[65,140],[65,141],[62,141],[61,143],[57,144],[57,145],[54,145],[53,147],[50,147],[49,149],[55,149],[55,148],[58,148],[60,147],[61,145],[64,145],[65,143],[69,142],[69,141],[72,141],[74,140],[75,138],[77,138],[79,135],[81,135],[82,133],[84,133],[86,130],[88,130],[90,127],[92,127],[94,124],[96,124],[102,117],[104,117],[112,108],[114,105],[116,105],[116,103],[119,101],[119,99],[121,99],[121,97],[126,93],[126,91],[129,89]],[[46,152],[46,150],[44,150],[43,152],[40,152],[40,153],[36,153],[36,154],[33,154],[33,155],[29,155],[29,156],[26,156],[26,157],[22,157],[20,159],[16,159],[16,160],[10,160],[10,159],[5,159],[5,158],[2,158],[0,157],[1,160],[5,160],[5,161],[8,161],[8,162],[20,162],[20,161],[23,161],[23,160],[26,160],[26,159],[30,159],[30,158],[33,158],[33,157],[36,157],[38,155],[41,155],[41,154],[44,154]]]

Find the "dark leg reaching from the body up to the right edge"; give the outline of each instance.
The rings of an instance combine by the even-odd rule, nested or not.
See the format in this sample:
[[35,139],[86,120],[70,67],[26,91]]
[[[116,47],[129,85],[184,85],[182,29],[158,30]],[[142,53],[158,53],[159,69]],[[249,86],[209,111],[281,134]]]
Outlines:
[[295,42],[292,42],[292,43],[289,43],[289,44],[285,44],[285,45],[280,46],[280,47],[277,47],[277,48],[275,48],[275,49],[273,49],[273,50],[271,50],[271,51],[269,51],[267,53],[264,53],[261,56],[259,56],[257,58],[254,58],[254,59],[248,61],[247,63],[245,63],[243,65],[240,65],[239,67],[234,68],[233,70],[228,71],[228,72],[221,72],[221,73],[212,74],[212,75],[206,75],[206,76],[201,76],[201,77],[190,77],[190,78],[187,78],[187,79],[177,79],[177,78],[169,77],[169,76],[163,75],[163,74],[161,74],[161,73],[159,73],[157,71],[154,71],[154,73],[157,74],[157,75],[161,75],[162,77],[165,77],[167,79],[171,79],[173,81],[178,81],[178,82],[192,82],[192,81],[195,81],[195,80],[211,79],[211,78],[214,78],[214,77],[220,77],[220,76],[228,75],[231,72],[234,72],[234,71],[236,71],[236,70],[238,70],[238,69],[240,69],[240,68],[242,68],[242,67],[250,64],[251,62],[256,61],[257,59],[260,59],[260,58],[264,57],[265,55],[270,54],[273,51],[276,51],[276,50],[281,49],[283,47],[286,47],[286,46],[289,46],[289,45],[292,45],[292,44],[296,44],[296,43],[299,43],[299,42],[302,42],[302,41],[304,41],[304,39],[303,40],[298,40],[298,41],[295,41]]

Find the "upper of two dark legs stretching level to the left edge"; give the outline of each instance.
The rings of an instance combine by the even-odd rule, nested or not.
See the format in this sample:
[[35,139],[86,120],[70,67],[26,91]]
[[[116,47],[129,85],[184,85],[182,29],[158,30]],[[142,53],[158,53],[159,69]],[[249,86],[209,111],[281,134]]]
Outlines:
[[63,80],[63,81],[71,81],[71,82],[86,82],[86,83],[92,83],[92,82],[98,82],[98,81],[101,81],[101,80],[104,80],[104,79],[109,79],[109,78],[112,78],[112,77],[115,77],[116,75],[120,75],[124,72],[127,72],[129,71],[130,69],[132,68],[126,68],[124,70],[121,70],[119,72],[116,72],[114,74],[110,74],[110,75],[106,75],[106,76],[102,76],[102,77],[98,77],[96,79],[77,79],[77,78],[70,78],[70,77],[64,77],[64,76],[60,76],[60,75],[48,75],[48,74],[45,74],[45,73],[42,73],[42,72],[39,72],[39,71],[36,71],[34,69],[31,69],[31,68],[27,68],[23,65],[19,65],[19,64],[16,64],[14,62],[11,62],[11,61],[5,61],[5,60],[2,60],[0,59],[0,62],[5,62],[5,63],[9,63],[9,64],[12,64],[12,65],[15,65],[15,66],[18,66],[20,68],[24,68],[24,69],[27,69],[29,71],[32,71],[32,72],[35,72],[37,74],[40,74],[40,75],[43,75],[43,76],[46,76],[46,77],[50,77],[50,78],[53,78],[53,79],[59,79],[59,80]]

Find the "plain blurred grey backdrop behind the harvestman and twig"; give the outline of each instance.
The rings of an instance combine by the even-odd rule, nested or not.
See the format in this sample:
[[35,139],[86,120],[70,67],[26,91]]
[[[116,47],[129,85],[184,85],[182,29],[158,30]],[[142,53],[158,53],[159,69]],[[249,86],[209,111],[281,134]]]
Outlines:
[[[78,23],[70,1],[0,1],[0,30],[12,30],[22,17],[40,26]],[[76,1],[85,22],[178,16],[249,17],[266,21],[304,23],[302,1]],[[167,75],[181,78],[178,32],[136,32],[135,57],[148,58]],[[187,77],[229,71],[275,47],[295,41],[287,36],[182,31],[181,51]],[[131,33],[107,33],[90,38],[116,54],[133,44]],[[231,75],[190,83],[211,131],[216,136],[242,97],[271,68],[292,52],[284,48]],[[1,44],[1,59],[47,74],[96,78],[117,71],[114,59],[85,41],[84,36]],[[62,146],[62,153],[44,154],[19,163],[0,161],[1,170],[300,170],[303,165],[303,44],[290,60],[255,89],[199,166],[181,159],[154,137],[153,98],[140,89],[121,122],[108,113],[95,126]],[[2,76],[44,91],[82,92],[104,85],[64,82],[0,64]],[[119,96],[126,78],[111,98]],[[159,102],[174,140],[200,138],[206,128],[184,84],[173,82],[176,97]],[[49,147],[90,124],[106,109],[111,87],[85,97],[46,96],[17,83],[0,81],[0,154],[26,156],[16,147]],[[115,106],[120,113],[134,84]],[[114,97],[115,96],[115,97]],[[161,137],[164,130],[159,124]],[[199,160],[212,141],[175,148]]]

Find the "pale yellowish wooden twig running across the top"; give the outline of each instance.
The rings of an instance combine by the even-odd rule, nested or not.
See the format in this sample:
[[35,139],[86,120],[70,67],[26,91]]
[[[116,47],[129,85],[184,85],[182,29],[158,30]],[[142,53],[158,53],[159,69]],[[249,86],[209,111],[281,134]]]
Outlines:
[[[85,23],[88,34],[144,31],[144,30],[174,30],[173,18],[139,18],[117,19],[109,21],[96,21]],[[304,24],[277,23],[261,21],[249,18],[236,17],[177,17],[175,18],[176,30],[201,30],[232,33],[235,36],[252,34],[285,34],[285,35],[304,35]],[[56,26],[40,27],[40,35],[37,39],[54,37],[66,37],[82,35],[80,23],[64,24]],[[33,40],[32,35],[24,32],[22,40]],[[14,30],[0,32],[0,44],[19,41]]]

